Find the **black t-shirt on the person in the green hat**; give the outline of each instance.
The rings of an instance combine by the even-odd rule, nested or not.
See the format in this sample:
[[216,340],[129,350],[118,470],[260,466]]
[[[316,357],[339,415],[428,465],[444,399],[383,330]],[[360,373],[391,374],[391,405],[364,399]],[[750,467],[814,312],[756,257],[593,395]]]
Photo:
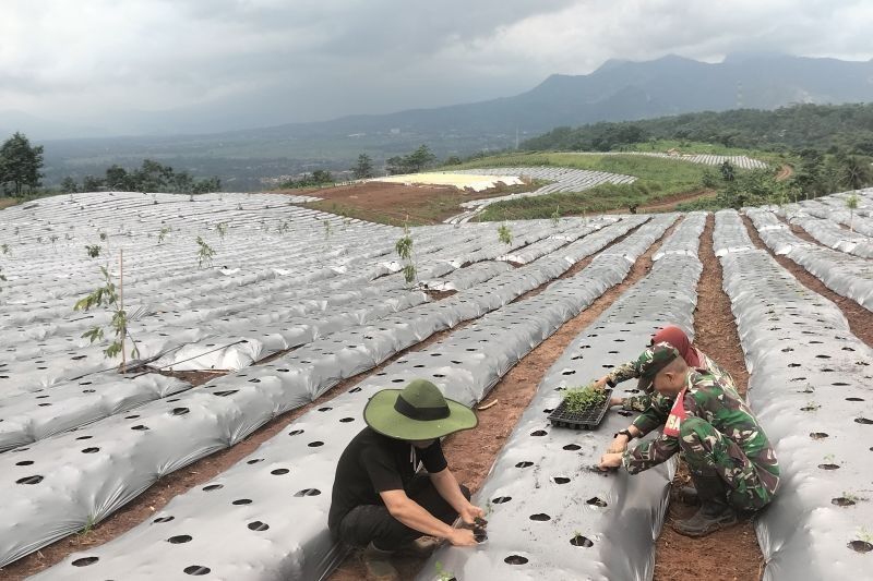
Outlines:
[[[364,427],[339,457],[327,525],[335,529],[360,505],[383,505],[379,493],[407,491],[419,462],[431,474],[449,465],[439,439],[427,448]],[[415,464],[412,463],[415,462]]]

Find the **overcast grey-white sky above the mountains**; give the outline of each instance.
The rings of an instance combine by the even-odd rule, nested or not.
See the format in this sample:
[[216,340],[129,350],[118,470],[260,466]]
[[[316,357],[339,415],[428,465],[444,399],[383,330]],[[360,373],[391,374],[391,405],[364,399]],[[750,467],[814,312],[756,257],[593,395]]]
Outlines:
[[109,133],[468,102],[613,58],[873,57],[870,0],[3,0],[0,14],[0,120]]

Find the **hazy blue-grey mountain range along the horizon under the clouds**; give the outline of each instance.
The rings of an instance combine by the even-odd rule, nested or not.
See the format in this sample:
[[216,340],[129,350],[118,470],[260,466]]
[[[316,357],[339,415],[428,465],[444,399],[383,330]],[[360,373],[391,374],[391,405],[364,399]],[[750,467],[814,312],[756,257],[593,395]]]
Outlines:
[[[295,161],[290,169],[300,170],[348,164],[362,152],[384,159],[421,143],[440,156],[505,148],[516,136],[597,121],[865,101],[873,101],[873,60],[748,53],[706,63],[668,56],[647,62],[611,60],[587,75],[554,74],[526,93],[473,104],[214,134],[44,143],[52,174],[71,168],[91,171],[83,159],[96,167],[137,165],[148,156],[176,159],[194,172],[211,166],[204,159],[286,159]],[[0,116],[0,134],[4,129],[15,128],[7,128]]]

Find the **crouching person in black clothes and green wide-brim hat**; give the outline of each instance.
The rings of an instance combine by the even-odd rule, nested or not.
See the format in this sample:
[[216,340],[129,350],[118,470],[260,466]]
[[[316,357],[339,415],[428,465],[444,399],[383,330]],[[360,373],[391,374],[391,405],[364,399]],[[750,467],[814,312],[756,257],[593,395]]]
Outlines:
[[[440,388],[415,379],[375,394],[363,410],[364,427],[339,457],[327,525],[337,541],[363,548],[370,579],[398,580],[394,553],[423,553],[422,536],[456,546],[476,544],[461,517],[482,526],[485,512],[470,504],[443,455],[440,438],[477,426],[476,414],[446,399]],[[424,468],[427,473],[420,471]]]

